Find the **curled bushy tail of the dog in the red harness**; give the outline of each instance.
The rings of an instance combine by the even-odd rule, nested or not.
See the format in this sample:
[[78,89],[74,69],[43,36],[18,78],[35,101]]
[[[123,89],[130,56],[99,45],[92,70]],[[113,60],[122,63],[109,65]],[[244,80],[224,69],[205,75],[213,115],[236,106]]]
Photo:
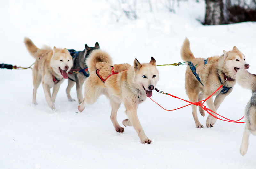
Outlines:
[[101,49],[93,50],[90,56],[86,60],[86,65],[88,66],[88,70],[90,74],[97,70],[96,64],[98,62],[105,62],[110,65],[113,65],[112,58],[106,51]]

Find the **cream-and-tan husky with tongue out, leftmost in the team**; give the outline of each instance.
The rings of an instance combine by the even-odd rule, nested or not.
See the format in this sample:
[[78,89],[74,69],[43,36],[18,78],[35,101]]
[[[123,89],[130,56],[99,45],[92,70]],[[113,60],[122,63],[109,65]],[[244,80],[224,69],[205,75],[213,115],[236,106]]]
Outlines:
[[[72,57],[68,50],[56,48],[53,50],[45,46],[38,49],[34,43],[28,39],[24,39],[24,43],[28,52],[36,59],[33,67],[33,104],[36,102],[36,91],[41,81],[44,89],[47,104],[51,109],[55,109],[55,99],[60,88],[60,84],[64,79],[68,79],[68,72],[73,66]],[[53,87],[51,96],[50,88]]]

